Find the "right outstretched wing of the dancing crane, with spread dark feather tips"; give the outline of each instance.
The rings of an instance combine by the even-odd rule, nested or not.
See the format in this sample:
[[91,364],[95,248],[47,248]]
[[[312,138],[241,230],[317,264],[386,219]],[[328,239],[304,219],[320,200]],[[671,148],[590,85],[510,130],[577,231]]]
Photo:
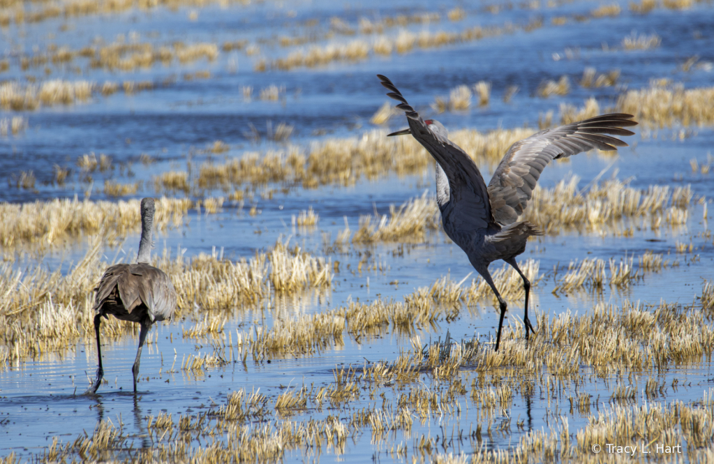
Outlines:
[[618,146],[628,146],[618,138],[603,134],[633,135],[632,131],[623,129],[637,125],[632,118],[631,114],[603,114],[540,131],[513,143],[488,183],[493,218],[502,225],[518,220],[533,195],[540,173],[550,160],[592,148],[617,150]]

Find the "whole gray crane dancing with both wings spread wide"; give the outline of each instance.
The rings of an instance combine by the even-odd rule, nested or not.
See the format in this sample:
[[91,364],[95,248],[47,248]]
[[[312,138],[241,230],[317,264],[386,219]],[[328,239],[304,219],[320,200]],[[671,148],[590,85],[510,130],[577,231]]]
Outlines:
[[631,136],[633,132],[623,127],[635,126],[637,122],[632,121],[630,114],[605,114],[535,133],[513,143],[486,187],[476,163],[448,139],[446,128],[438,121],[423,120],[389,79],[380,74],[377,77],[391,91],[387,96],[400,102],[397,108],[405,112],[409,123],[408,129],[389,135],[411,133],[436,160],[436,201],[444,231],[466,252],[471,265],[498,298],[501,319],[496,350],[501,342],[507,305],[493,283],[488,265],[499,259],[513,266],[523,279],[526,290],[523,323],[528,340],[529,331],[535,332],[528,320],[531,283],[518,268],[516,256],[526,251],[528,237],[543,235],[543,232],[528,221],[519,222],[518,216],[533,196],[535,183],[550,160],[592,148],[616,150],[618,146],[628,146],[604,134]]

